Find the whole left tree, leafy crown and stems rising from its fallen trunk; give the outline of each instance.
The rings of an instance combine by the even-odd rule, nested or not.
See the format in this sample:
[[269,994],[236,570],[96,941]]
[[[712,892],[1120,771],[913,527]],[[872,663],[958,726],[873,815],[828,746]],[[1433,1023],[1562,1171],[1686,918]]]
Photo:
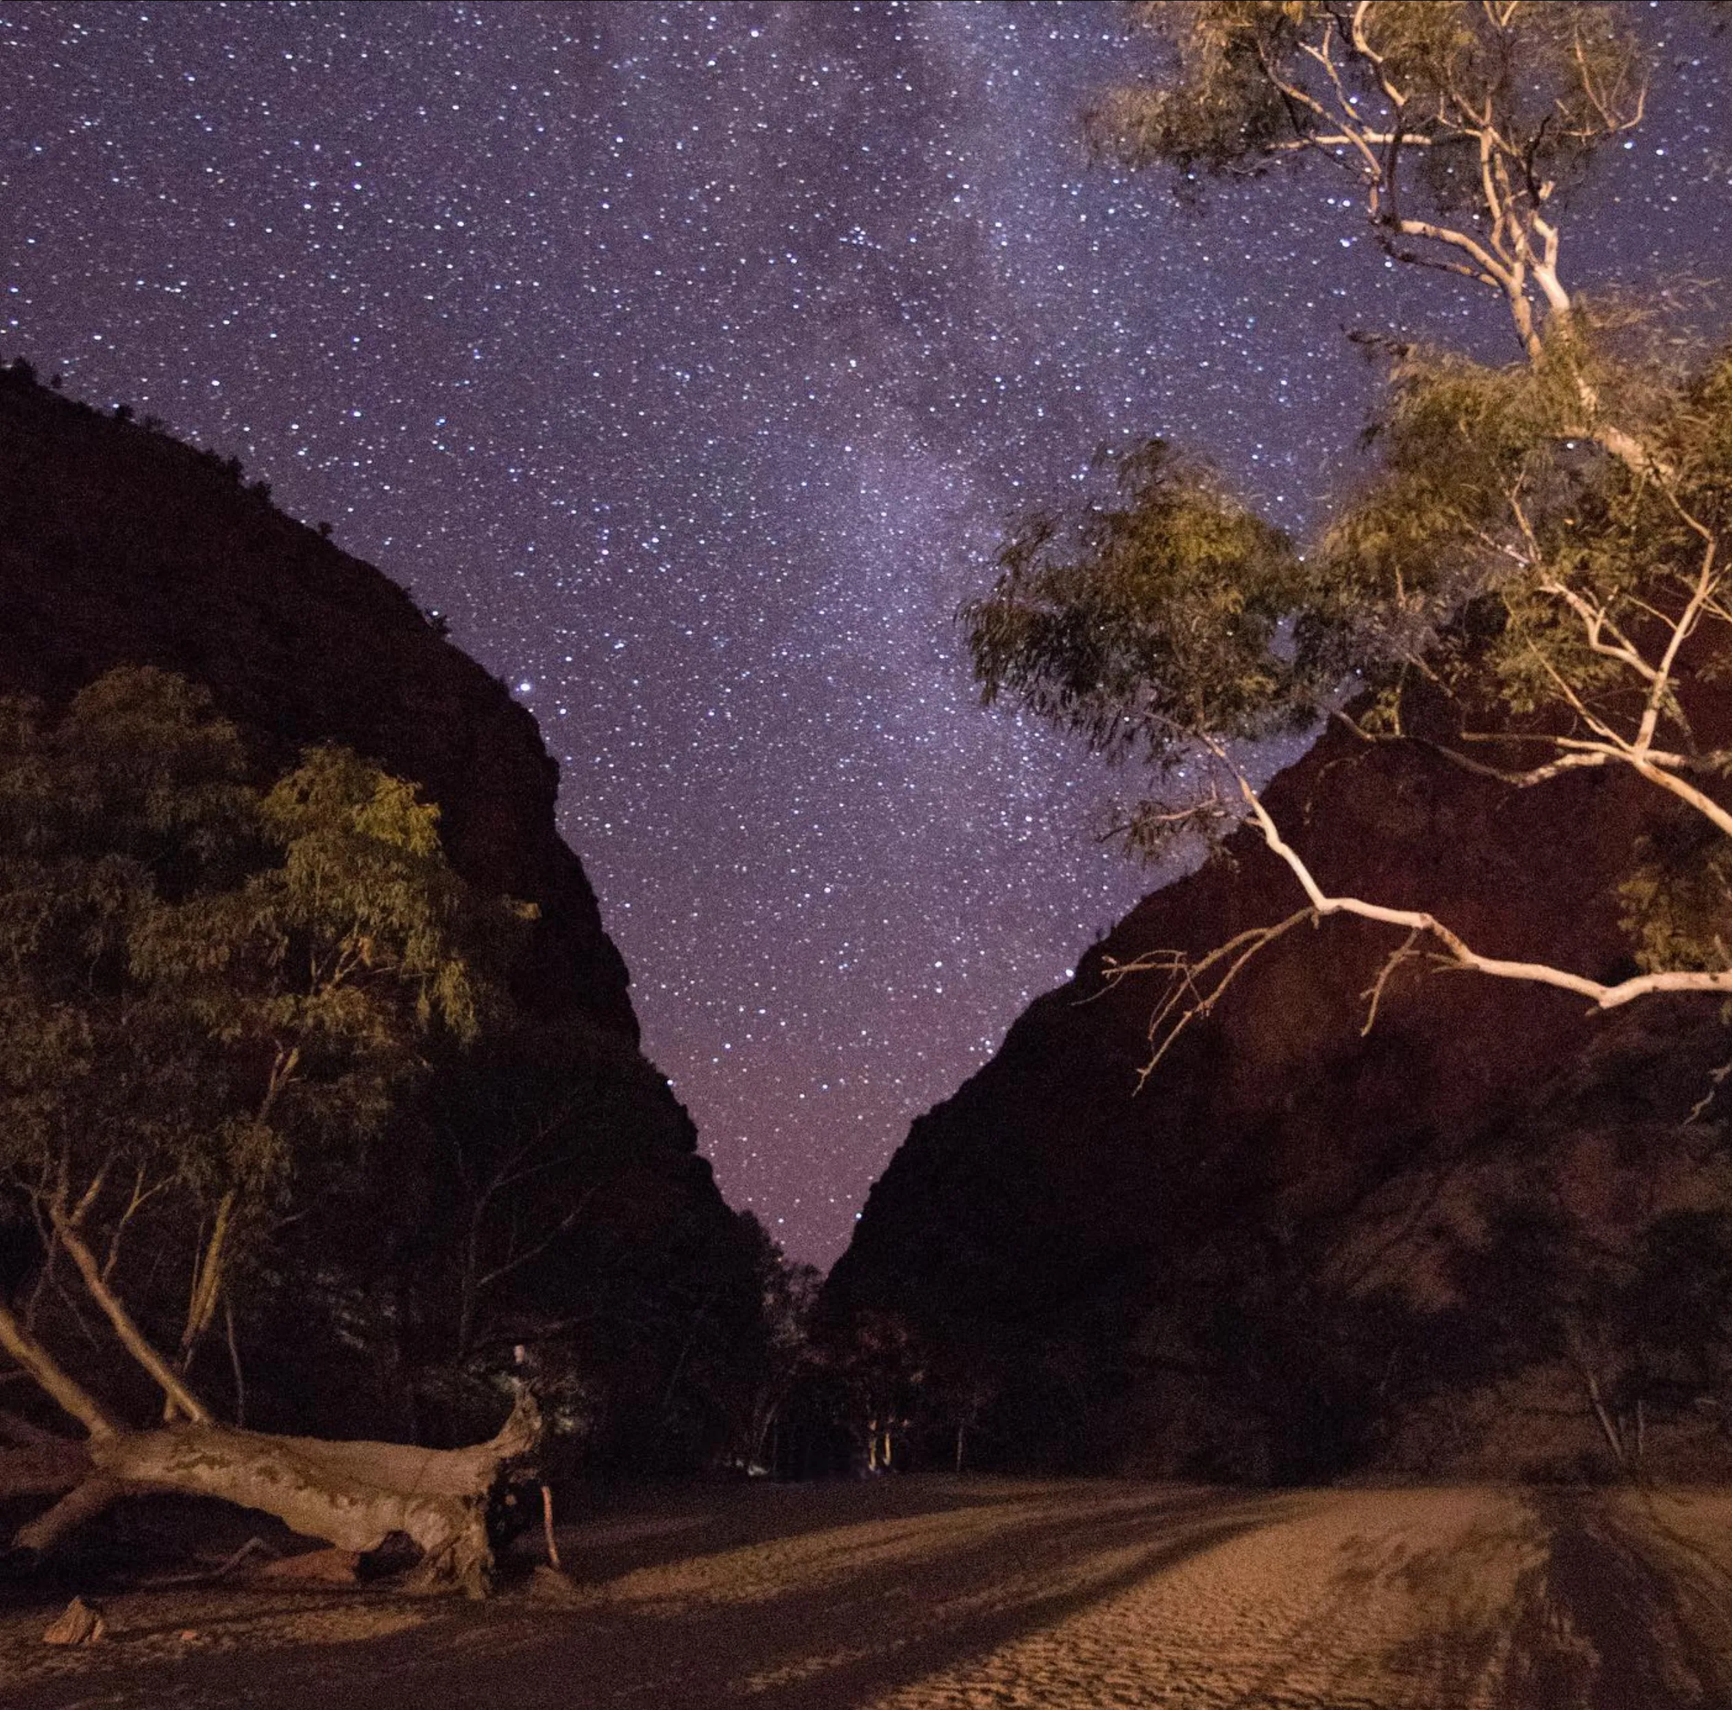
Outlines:
[[469,894],[436,816],[343,748],[256,787],[234,726],[163,672],[111,672],[61,717],[0,702],[0,1183],[36,1230],[0,1348],[88,1461],[16,1544],[168,1490],[346,1549],[404,1532],[483,1587],[532,1403],[433,1452],[242,1431],[197,1377],[218,1318],[237,1360],[236,1273],[499,1001],[513,906]]

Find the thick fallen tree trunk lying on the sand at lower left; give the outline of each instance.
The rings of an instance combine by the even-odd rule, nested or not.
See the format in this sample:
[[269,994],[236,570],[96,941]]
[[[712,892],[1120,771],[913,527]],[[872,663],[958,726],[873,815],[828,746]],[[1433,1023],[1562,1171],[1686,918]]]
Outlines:
[[218,1424],[120,1431],[80,1445],[90,1476],[21,1526],[12,1544],[48,1551],[121,1497],[220,1497],[360,1554],[402,1533],[421,1551],[419,1578],[481,1597],[494,1573],[488,1497],[506,1469],[535,1450],[540,1428],[540,1410],[520,1391],[499,1435],[471,1448],[268,1436]]

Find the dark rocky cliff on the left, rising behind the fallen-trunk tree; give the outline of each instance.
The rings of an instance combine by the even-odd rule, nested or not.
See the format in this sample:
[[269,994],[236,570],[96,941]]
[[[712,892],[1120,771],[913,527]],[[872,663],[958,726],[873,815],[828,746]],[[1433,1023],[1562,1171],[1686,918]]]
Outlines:
[[568,1412],[603,1462],[714,1450],[757,1322],[753,1249],[637,1052],[625,965],[558,835],[535,721],[237,463],[0,371],[0,693],[64,705],[125,664],[204,684],[262,776],[343,743],[412,780],[457,871],[537,910],[513,1027],[435,1064],[372,1178],[291,1220],[251,1273],[249,1419],[492,1429],[499,1362],[527,1343],[556,1377],[582,1372]]

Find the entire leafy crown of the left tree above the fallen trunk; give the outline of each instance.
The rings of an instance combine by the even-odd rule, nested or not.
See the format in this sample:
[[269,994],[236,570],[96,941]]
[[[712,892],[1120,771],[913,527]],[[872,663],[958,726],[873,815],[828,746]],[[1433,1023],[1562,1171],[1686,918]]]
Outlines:
[[114,670],[59,721],[0,703],[0,1173],[45,1223],[118,1254],[144,1216],[218,1277],[355,1161],[431,1036],[475,1036],[501,915],[409,785],[315,748],[262,792],[178,677]]

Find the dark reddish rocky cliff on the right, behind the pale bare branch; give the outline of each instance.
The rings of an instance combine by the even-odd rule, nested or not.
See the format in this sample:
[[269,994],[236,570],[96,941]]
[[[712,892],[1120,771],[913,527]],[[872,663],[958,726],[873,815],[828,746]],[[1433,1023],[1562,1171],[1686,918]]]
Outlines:
[[[1632,844],[1671,828],[1611,774],[1514,792],[1339,731],[1268,800],[1325,887],[1600,979],[1628,968]],[[1597,1017],[1410,963],[1367,1027],[1399,934],[1334,918],[1268,948],[1138,1090],[1162,986],[1103,960],[1299,906],[1245,832],[1148,896],[914,1123],[831,1322],[897,1315],[935,1370],[972,1370],[1003,1464],[1580,1471],[1633,1455],[1637,1402],[1644,1454],[1670,1407],[1675,1459],[1718,1464],[1723,1308],[1684,1329],[1649,1299],[1668,1240],[1704,1286],[1723,1258],[1715,1105],[1687,1123],[1732,1055],[1718,1007]]]

